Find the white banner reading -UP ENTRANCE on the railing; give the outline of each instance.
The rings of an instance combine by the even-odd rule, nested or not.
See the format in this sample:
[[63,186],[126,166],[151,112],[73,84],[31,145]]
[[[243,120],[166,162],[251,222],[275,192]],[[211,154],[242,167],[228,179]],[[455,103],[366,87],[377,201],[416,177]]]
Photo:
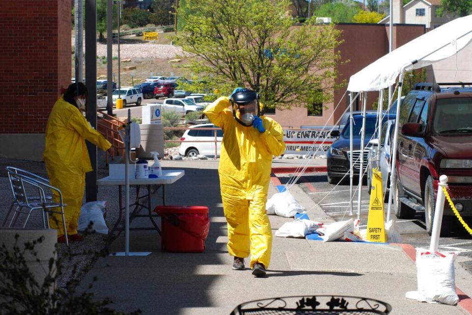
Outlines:
[[325,155],[336,140],[329,134],[331,128],[332,126],[324,129],[284,129],[284,154],[312,155],[316,152],[317,155]]

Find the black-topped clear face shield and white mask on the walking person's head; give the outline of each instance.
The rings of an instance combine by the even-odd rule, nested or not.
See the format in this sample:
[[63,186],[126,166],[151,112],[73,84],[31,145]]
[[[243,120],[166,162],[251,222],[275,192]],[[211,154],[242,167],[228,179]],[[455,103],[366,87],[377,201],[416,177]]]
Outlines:
[[236,121],[249,127],[252,125],[255,116],[261,115],[259,105],[259,95],[256,91],[243,90],[231,95],[230,102],[233,108],[233,116]]

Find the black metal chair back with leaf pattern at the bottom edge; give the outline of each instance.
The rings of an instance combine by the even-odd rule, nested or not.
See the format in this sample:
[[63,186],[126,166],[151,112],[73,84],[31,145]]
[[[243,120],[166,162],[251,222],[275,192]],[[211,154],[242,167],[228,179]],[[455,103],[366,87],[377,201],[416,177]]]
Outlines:
[[392,307],[382,301],[357,296],[306,295],[266,298],[245,302],[236,306],[231,315],[275,314],[389,314]]

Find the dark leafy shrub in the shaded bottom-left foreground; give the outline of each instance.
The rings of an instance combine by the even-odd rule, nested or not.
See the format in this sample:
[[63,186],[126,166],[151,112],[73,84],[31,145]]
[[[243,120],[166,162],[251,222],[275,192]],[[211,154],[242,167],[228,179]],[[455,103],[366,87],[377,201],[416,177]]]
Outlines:
[[[89,226],[90,229],[91,225]],[[88,229],[88,230],[89,230]],[[26,257],[37,257],[38,253],[34,250],[36,244],[44,240],[44,236],[37,240],[29,241],[24,244],[18,243],[17,234],[16,243],[12,250],[9,250],[4,244],[0,246],[0,314],[30,314],[30,315],[59,315],[59,314],[124,314],[108,308],[112,301],[109,298],[97,300],[92,292],[78,292],[79,280],[73,278],[67,281],[64,287],[57,285],[58,279],[64,272],[64,267],[71,264],[72,260],[80,254],[72,253],[70,247],[67,247],[65,254],[59,258],[49,260],[49,269],[42,284],[38,283],[34,274],[29,269]],[[23,245],[23,246],[22,246]],[[56,244],[56,253],[59,246]],[[62,251],[62,250],[61,250]],[[82,255],[92,254],[92,261],[98,257],[107,255],[106,251],[95,252],[85,250]],[[79,263],[73,264],[72,274],[77,276]],[[88,262],[85,266],[87,272],[92,266]],[[94,278],[95,282],[97,279]],[[89,285],[89,289],[92,284]],[[141,314],[141,311],[135,311],[130,314]]]

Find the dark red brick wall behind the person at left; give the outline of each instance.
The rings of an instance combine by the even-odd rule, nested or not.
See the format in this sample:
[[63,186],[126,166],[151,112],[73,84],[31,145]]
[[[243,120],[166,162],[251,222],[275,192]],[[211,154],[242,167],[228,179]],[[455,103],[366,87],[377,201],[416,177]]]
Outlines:
[[0,133],[44,133],[71,78],[71,0],[0,5]]

